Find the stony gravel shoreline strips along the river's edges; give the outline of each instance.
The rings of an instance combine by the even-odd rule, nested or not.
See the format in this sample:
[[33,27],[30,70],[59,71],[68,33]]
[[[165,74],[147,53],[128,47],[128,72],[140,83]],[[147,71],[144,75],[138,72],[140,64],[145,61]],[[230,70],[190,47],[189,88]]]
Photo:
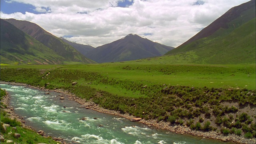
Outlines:
[[[102,112],[102,113],[108,113],[108,114],[114,114],[114,115],[118,115],[118,116],[122,116],[124,118],[134,118],[133,116],[130,116],[128,114],[120,114],[119,112],[113,111],[113,110],[107,110],[104,108],[100,108],[100,106],[98,106],[97,104],[94,104],[93,102],[90,101],[85,101],[84,99],[78,98],[77,96],[75,96],[74,94],[70,94],[68,91],[66,90],[48,90],[48,89],[44,89],[44,88],[39,88],[39,87],[34,87],[34,86],[29,86],[27,84],[18,84],[18,83],[10,83],[10,82],[1,82],[1,84],[12,84],[12,85],[19,85],[19,86],[26,86],[28,88],[34,88],[34,89],[38,89],[38,90],[42,90],[47,92],[58,92],[60,93],[58,95],[60,100],[74,100],[78,103],[81,104],[81,108],[90,108],[92,110],[96,110],[98,112]],[[9,98],[7,98],[8,100]],[[8,104],[8,102],[7,102]],[[10,111],[10,114],[16,118],[17,120],[22,122],[22,118],[19,118],[11,109],[8,109]],[[8,112],[9,113],[9,112]],[[157,122],[156,120],[140,120],[140,122],[142,122],[143,124],[148,125],[149,127],[152,128],[157,128],[157,129],[164,129],[164,130],[168,130],[170,132],[176,132],[176,133],[180,133],[180,134],[189,134],[189,135],[193,135],[193,136],[199,136],[200,138],[211,138],[211,139],[217,139],[217,140],[222,140],[222,141],[228,141],[228,142],[234,142],[234,143],[239,143],[239,144],[254,144],[255,143],[255,139],[246,139],[242,136],[236,136],[234,134],[230,134],[229,136],[223,136],[220,132],[200,132],[200,131],[195,131],[195,130],[190,130],[190,128],[187,128],[186,126],[180,126],[180,125],[170,125],[169,122]],[[24,122],[22,122],[24,126],[26,126],[24,124]],[[28,127],[28,126],[27,126]],[[30,127],[28,127],[30,128]]]

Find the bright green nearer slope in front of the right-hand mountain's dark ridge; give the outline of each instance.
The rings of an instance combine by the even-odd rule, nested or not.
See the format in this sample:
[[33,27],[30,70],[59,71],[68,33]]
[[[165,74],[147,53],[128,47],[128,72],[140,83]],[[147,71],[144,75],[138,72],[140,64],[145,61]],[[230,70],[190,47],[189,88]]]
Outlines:
[[175,62],[185,63],[253,64],[256,55],[255,25],[254,18],[225,36],[202,38],[173,51],[169,57]]

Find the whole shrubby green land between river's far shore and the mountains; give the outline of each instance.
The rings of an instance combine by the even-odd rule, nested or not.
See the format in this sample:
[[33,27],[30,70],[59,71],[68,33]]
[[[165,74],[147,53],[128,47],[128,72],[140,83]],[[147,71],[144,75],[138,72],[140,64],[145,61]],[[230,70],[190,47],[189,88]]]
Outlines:
[[[47,69],[43,69],[44,66],[29,67],[2,68],[0,80],[70,90],[103,108],[146,120],[163,120],[193,130],[218,130],[224,135],[256,137],[255,112],[241,111],[243,107],[255,108],[256,105],[255,66],[101,64],[47,66]],[[178,80],[180,83],[186,80],[186,83],[176,84]],[[216,81],[233,86],[246,82],[254,86],[212,85],[211,82]],[[72,85],[72,82],[77,84]]]

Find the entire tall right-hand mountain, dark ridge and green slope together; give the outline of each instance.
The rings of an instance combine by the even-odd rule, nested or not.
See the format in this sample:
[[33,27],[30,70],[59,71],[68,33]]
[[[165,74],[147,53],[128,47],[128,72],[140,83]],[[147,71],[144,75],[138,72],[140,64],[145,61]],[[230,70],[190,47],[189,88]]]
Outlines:
[[190,63],[255,63],[255,0],[235,6],[165,55],[190,56]]

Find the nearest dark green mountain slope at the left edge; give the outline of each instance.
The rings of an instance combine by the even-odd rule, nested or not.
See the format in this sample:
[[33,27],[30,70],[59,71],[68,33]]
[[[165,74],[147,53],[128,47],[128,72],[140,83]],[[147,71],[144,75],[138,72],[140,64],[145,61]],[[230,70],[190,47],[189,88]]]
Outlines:
[[0,59],[3,64],[62,64],[64,57],[9,22],[0,19]]

